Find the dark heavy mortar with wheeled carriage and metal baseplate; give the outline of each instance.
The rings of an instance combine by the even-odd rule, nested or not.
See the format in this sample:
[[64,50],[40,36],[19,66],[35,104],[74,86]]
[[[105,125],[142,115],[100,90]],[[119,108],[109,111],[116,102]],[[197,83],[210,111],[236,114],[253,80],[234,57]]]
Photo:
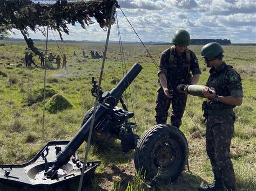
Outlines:
[[[139,138],[134,133],[137,124],[129,122],[133,113],[127,110],[122,94],[141,70],[142,66],[135,63],[110,92],[98,89],[97,82],[92,79],[92,95],[95,96],[99,91],[94,122],[94,108],[91,108],[82,119],[81,129],[70,142],[49,142],[35,158],[25,164],[1,165],[0,182],[5,188],[11,184],[25,190],[55,190],[66,182],[77,180],[83,167],[85,180],[90,180],[100,162],[84,163],[79,159],[77,150],[84,140],[89,139],[91,123],[92,144],[120,139],[123,152],[135,149],[135,167],[137,171],[145,172],[148,183],[154,185],[176,180],[188,156],[188,145],[183,133],[173,125],[160,124],[152,126]],[[118,102],[122,108],[117,107]]]

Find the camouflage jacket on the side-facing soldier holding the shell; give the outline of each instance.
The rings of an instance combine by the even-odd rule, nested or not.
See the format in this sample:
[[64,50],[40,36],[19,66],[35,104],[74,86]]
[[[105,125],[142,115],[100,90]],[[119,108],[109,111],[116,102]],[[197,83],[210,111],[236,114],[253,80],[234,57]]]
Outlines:
[[[220,96],[242,97],[242,83],[240,75],[232,66],[226,65],[225,62],[215,69],[210,69],[210,76],[206,86],[215,88],[216,94]],[[209,109],[225,110],[232,109],[235,106],[227,105],[221,102],[207,100]]]

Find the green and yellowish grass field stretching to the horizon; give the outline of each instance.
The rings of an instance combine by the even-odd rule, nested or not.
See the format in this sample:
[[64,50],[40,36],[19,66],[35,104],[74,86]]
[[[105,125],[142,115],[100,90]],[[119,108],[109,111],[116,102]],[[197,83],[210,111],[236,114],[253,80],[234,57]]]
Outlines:
[[[25,43],[0,41],[0,62],[23,63]],[[44,49],[43,43],[35,43]],[[45,115],[45,141],[42,139],[43,101],[38,98],[38,90],[43,88],[44,70],[40,68],[27,69],[0,65],[0,164],[19,164],[31,159],[41,147],[50,140],[70,140],[80,128],[85,112],[93,106],[95,98],[91,96],[91,77],[99,79],[101,59],[85,59],[84,50],[89,56],[91,50],[103,55],[104,44],[77,43],[49,44],[49,53],[66,54],[67,69],[47,70],[46,85],[64,96],[72,108]],[[190,46],[199,58],[199,66],[203,72],[199,84],[205,84],[208,68],[200,59],[202,46]],[[141,45],[124,44],[124,55],[127,70],[139,62],[143,66],[142,72],[131,84],[131,99],[134,116],[138,123],[138,135],[154,124],[154,107],[156,100],[157,67]],[[153,58],[158,62],[159,56],[168,46],[147,45]],[[235,108],[235,135],[232,139],[231,154],[237,177],[238,190],[255,190],[255,148],[256,148],[256,55],[255,46],[224,46],[224,60],[232,65],[241,75],[244,90],[244,100],[240,107]],[[73,56],[76,51],[77,56]],[[38,57],[34,60],[39,64]],[[54,66],[55,68],[57,65]],[[120,58],[119,44],[110,44],[103,74],[102,88],[110,91],[123,77],[123,66]],[[125,97],[129,97],[126,95]],[[49,108],[46,101],[46,109]],[[160,190],[197,190],[198,186],[211,182],[213,174],[210,160],[205,148],[205,124],[201,111],[203,98],[188,97],[183,124],[180,130],[184,132],[189,149],[189,165],[191,172],[184,172],[180,178],[170,186],[161,186]],[[127,106],[132,111],[131,101]],[[192,119],[190,116],[192,116]],[[169,119],[170,120],[170,119]],[[169,121],[170,122],[170,121]],[[198,129],[202,132],[200,135]],[[133,178],[133,152],[122,153],[120,144],[106,148],[91,147],[89,160],[100,160],[102,164],[97,168],[96,178],[93,179],[94,189],[124,190],[128,180]],[[81,156],[84,154],[85,144],[79,148]],[[111,174],[112,179],[106,180],[104,174],[109,169],[117,167],[125,173]],[[122,171],[123,172],[123,171]],[[123,174],[123,175],[122,175]],[[144,186],[145,190],[154,190]],[[131,190],[131,189],[130,189]]]

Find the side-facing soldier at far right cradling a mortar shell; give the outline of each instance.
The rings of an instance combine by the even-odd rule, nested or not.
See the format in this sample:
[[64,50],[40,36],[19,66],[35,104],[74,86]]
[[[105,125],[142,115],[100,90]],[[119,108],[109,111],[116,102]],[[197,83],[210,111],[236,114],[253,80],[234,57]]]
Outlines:
[[[206,151],[212,164],[213,185],[198,190],[235,190],[235,174],[231,161],[230,145],[234,134],[233,108],[242,103],[241,77],[232,66],[223,61],[223,48],[209,43],[201,49],[207,67],[211,67],[203,94],[206,123]],[[216,93],[210,94],[209,87]]]

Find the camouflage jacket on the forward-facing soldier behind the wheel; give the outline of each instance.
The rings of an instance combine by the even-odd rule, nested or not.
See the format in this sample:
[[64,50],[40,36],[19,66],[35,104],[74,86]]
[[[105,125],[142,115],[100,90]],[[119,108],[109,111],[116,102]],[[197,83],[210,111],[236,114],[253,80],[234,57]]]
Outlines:
[[[190,49],[188,51],[190,53],[190,63],[186,59],[185,51],[179,56],[176,48],[166,49],[160,56],[158,76],[163,73],[166,75],[168,82],[179,84],[186,81],[187,74],[190,71],[193,75],[201,74],[196,54]],[[173,61],[170,60],[170,54],[173,54]]]

